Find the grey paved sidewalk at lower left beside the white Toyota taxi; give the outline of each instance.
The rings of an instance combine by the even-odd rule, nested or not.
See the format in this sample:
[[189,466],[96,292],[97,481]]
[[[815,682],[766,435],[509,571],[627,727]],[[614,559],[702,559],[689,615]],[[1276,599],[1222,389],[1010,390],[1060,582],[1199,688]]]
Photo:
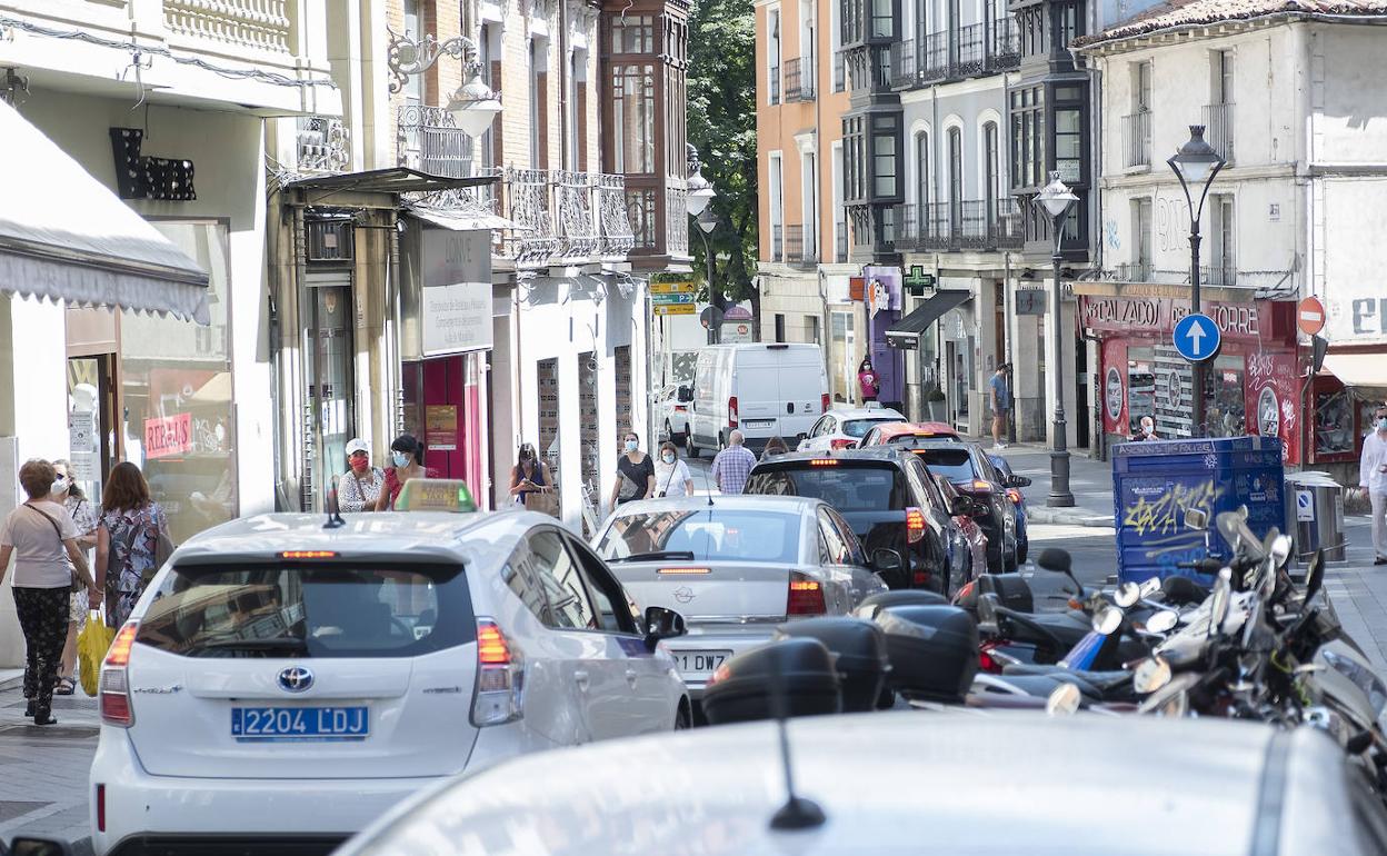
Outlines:
[[14,674],[0,670],[0,839],[18,832],[62,838],[89,855],[87,771],[101,721],[96,699],[80,687],[54,696],[57,724],[35,726],[24,716]]

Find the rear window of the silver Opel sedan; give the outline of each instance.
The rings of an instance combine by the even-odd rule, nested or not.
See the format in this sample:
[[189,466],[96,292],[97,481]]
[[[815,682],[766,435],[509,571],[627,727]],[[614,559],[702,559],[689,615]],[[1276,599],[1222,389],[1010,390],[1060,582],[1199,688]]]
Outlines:
[[617,560],[641,554],[691,554],[695,562],[799,562],[800,515],[699,508],[621,515],[598,554]]

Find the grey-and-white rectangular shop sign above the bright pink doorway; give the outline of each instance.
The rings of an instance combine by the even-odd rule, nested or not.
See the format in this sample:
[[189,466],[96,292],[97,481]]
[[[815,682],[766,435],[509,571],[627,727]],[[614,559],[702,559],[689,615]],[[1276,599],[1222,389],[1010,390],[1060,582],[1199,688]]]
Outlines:
[[423,354],[491,347],[491,232],[424,229]]

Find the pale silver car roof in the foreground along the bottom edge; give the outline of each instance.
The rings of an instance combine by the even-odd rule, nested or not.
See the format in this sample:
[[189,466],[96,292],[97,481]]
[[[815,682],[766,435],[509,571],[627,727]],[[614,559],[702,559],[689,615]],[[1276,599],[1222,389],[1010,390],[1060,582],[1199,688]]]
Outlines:
[[1259,806],[1282,817],[1265,852],[1354,852],[1333,838],[1351,823],[1332,802],[1348,799],[1341,753],[1308,728],[915,710],[786,727],[816,830],[770,828],[786,794],[763,721],[524,755],[406,801],[338,853],[1243,856],[1264,852]]

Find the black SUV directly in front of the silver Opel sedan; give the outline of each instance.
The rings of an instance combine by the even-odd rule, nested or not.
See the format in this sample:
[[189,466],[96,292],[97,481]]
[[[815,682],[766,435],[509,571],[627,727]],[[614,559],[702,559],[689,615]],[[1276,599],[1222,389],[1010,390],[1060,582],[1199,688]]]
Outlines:
[[947,594],[963,584],[949,565],[951,513],[968,513],[972,502],[949,509],[929,470],[897,447],[822,452],[792,452],[761,461],[746,479],[748,494],[817,497],[828,502],[861,538],[867,555],[890,548],[906,556],[892,588],[932,588]]

